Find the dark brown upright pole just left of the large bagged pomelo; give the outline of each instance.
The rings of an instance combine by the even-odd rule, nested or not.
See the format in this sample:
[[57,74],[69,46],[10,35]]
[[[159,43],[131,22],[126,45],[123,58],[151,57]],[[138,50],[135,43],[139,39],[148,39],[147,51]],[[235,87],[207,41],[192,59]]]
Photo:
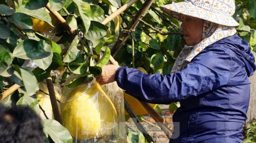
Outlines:
[[52,104],[52,112],[54,113],[54,119],[62,124],[62,119],[59,113],[59,107],[58,107],[57,99],[54,92],[54,85],[52,83],[52,77],[51,76],[47,77],[46,82],[47,82],[47,88],[50,96],[50,101]]

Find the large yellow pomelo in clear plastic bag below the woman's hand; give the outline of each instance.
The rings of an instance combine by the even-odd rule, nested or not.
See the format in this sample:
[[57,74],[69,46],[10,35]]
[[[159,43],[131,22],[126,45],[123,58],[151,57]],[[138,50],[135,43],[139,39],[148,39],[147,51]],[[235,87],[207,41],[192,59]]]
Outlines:
[[112,133],[117,125],[116,109],[97,82],[76,87],[62,106],[62,120],[71,136],[98,138]]

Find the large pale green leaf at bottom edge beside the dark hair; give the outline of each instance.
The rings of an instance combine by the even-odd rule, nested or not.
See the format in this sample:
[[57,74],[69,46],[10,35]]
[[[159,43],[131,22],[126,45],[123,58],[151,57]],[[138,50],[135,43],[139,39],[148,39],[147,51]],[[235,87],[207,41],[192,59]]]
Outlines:
[[55,143],[72,143],[72,136],[67,128],[54,119],[42,120],[43,131],[47,133]]

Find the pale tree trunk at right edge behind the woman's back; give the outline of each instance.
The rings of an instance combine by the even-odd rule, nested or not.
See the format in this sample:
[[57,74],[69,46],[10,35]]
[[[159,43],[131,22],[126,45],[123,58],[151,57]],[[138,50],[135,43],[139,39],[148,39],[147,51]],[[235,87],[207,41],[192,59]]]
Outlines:
[[[254,57],[256,57],[256,53],[252,52]],[[251,95],[250,95],[250,103],[247,111],[246,124],[248,124],[253,118],[256,118],[256,73],[253,76],[249,77],[251,82]]]

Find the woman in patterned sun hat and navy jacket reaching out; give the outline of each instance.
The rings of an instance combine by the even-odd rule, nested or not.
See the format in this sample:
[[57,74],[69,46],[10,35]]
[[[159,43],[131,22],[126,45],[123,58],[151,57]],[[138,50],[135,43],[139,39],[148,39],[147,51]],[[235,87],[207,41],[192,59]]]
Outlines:
[[242,143],[249,105],[248,77],[256,66],[249,45],[235,34],[234,26],[239,24],[232,18],[234,0],[187,0],[160,8],[183,21],[187,43],[171,74],[148,75],[107,65],[96,80],[100,84],[116,81],[140,101],[180,101],[173,114],[172,143]]

